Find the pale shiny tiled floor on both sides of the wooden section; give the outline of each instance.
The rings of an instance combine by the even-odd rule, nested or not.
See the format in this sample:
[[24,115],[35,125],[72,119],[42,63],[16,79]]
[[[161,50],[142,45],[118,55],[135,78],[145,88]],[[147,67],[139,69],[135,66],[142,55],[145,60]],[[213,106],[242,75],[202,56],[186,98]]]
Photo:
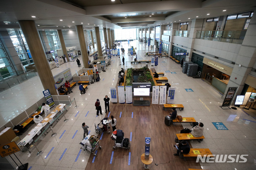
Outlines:
[[[146,44],[137,44],[137,42],[131,43],[134,47],[137,47],[138,60],[150,59],[150,57],[144,57],[144,50],[148,51]],[[125,61],[133,61],[134,57],[127,55],[128,44],[123,44],[123,46],[125,48],[125,53],[122,53],[121,56],[124,55]],[[90,59],[92,61],[92,57],[90,57]],[[168,77],[168,82],[172,87],[176,87],[175,103],[181,103],[185,107],[184,111],[179,112],[182,117],[194,117],[197,121],[204,123],[205,139],[201,143],[190,141],[192,147],[209,148],[213,154],[248,154],[246,157],[248,161],[246,163],[201,162],[200,164],[202,168],[208,170],[256,169],[255,119],[244,113],[241,109],[222,110],[219,107],[223,101],[221,99],[222,95],[201,79],[187,77],[182,73],[180,65],[174,63],[171,59],[159,58],[158,63],[159,65],[154,67],[156,71],[165,72],[169,70],[171,72],[176,72],[176,74],[165,73],[164,76]],[[128,67],[124,67],[124,69],[133,66],[141,67],[144,65],[145,64],[128,64]],[[70,67],[72,74],[75,73],[75,70],[81,68],[78,68],[76,62],[69,62],[60,65],[59,68],[52,69],[53,75],[66,67]],[[74,87],[74,93],[70,94],[70,98],[76,99],[78,108],[74,108],[74,103],[72,103],[73,105],[71,107],[68,107],[66,117],[69,121],[64,123],[64,118],[62,118],[54,125],[53,129],[54,132],[57,132],[57,136],[51,137],[51,132],[49,132],[46,136],[40,138],[37,147],[39,150],[44,151],[42,156],[36,156],[37,151],[35,147],[32,147],[30,148],[32,152],[31,154],[29,152],[18,152],[16,154],[20,160],[24,163],[28,162],[29,167],[32,166],[31,170],[84,170],[90,156],[88,151],[82,150],[78,160],[75,162],[80,151],[79,142],[81,142],[83,134],[81,124],[85,122],[86,125],[90,127],[90,134],[95,134],[94,123],[99,123],[100,119],[102,119],[105,114],[95,117],[96,111],[94,103],[96,99],[100,99],[102,102],[104,96],[109,94],[109,87],[116,86],[118,79],[117,73],[121,67],[123,67],[123,65],[118,65],[118,57],[113,57],[112,63],[108,66],[106,72],[100,73],[101,81],[89,85],[85,95],[80,95],[78,87]],[[190,88],[194,92],[186,92],[186,88]],[[0,109],[1,118],[3,118],[4,121],[12,119],[12,117],[17,115],[22,109],[26,109],[26,107],[29,107],[36,99],[40,99],[43,96],[42,91],[42,84],[40,83],[39,77],[36,76],[0,93],[0,107],[3,108]],[[33,98],[31,96],[33,96]],[[104,110],[103,107],[102,109]],[[79,114],[75,117],[78,111]],[[87,117],[85,117],[88,111],[89,113]],[[216,130],[212,122],[222,122],[228,130]],[[184,124],[183,127],[191,128],[191,126],[187,124]],[[66,131],[64,132],[64,130]],[[78,132],[74,136],[76,130],[78,130]],[[62,135],[63,132],[64,134]],[[60,138],[61,135],[62,137]],[[74,136],[73,139],[72,136]],[[45,158],[52,148],[52,152]],[[64,156],[59,160],[65,149],[67,150]]]

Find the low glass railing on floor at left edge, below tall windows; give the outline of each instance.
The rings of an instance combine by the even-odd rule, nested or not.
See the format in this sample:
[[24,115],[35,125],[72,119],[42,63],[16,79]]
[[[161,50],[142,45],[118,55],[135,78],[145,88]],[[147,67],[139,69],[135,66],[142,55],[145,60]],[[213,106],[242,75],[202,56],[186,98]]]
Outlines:
[[8,89],[17,84],[20,84],[23,81],[26,81],[32,77],[35,77],[36,72],[34,72],[34,70],[27,70],[27,71],[18,70],[16,72],[8,73],[7,75],[8,76],[6,78],[1,79],[0,91],[4,91],[5,89]]

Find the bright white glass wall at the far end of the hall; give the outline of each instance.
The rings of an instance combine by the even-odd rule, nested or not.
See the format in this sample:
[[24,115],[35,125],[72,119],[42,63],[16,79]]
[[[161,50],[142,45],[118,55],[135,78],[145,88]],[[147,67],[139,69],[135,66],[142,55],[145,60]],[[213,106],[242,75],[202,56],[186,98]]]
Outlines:
[[115,29],[116,40],[136,40],[136,29]]

